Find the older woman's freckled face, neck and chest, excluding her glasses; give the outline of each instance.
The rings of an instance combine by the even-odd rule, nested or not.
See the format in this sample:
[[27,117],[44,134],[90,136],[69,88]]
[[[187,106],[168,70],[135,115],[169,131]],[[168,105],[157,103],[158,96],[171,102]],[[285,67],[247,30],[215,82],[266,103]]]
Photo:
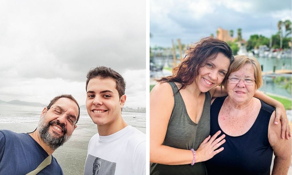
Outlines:
[[[230,76],[254,79],[254,71],[250,64],[246,64]],[[245,85],[243,81],[238,84],[228,82],[228,97],[218,115],[218,123],[223,132],[230,136],[241,136],[251,128],[261,107],[260,100],[253,97],[255,91],[255,85]]]

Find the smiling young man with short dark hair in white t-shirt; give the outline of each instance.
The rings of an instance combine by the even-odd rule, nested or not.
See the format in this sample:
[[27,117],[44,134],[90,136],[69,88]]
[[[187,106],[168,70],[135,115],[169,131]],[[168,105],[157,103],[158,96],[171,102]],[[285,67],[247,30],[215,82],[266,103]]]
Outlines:
[[122,118],[124,78],[107,67],[87,74],[86,108],[98,133],[89,141],[84,175],[146,174],[146,135]]

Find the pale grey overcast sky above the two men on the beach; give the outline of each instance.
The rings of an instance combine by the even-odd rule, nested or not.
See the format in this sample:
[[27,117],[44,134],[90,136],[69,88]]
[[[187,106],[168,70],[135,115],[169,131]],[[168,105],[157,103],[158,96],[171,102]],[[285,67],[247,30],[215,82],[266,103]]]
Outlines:
[[0,100],[48,104],[66,93],[83,105],[88,70],[107,66],[126,80],[125,106],[145,107],[149,94],[145,4],[1,1]]

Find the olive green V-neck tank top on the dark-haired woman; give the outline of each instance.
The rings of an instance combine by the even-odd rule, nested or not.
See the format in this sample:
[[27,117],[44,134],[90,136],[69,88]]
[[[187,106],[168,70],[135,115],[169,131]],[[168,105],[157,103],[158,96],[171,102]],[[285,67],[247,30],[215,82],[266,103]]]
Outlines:
[[[201,118],[197,123],[193,122],[187,114],[187,109],[183,98],[174,82],[168,82],[173,90],[174,106],[168,122],[167,131],[163,145],[173,148],[197,150],[199,145],[210,134],[210,105],[211,95],[205,92],[205,101]],[[171,154],[171,153],[169,153]],[[150,167],[151,175],[177,175],[177,174],[207,174],[203,162],[184,165],[165,165],[152,163]]]

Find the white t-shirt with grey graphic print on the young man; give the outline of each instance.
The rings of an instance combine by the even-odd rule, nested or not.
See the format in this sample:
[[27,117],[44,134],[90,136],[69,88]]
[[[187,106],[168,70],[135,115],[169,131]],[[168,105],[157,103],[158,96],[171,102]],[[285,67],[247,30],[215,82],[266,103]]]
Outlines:
[[90,139],[84,175],[143,175],[146,165],[146,135],[128,125],[109,136],[97,133]]

